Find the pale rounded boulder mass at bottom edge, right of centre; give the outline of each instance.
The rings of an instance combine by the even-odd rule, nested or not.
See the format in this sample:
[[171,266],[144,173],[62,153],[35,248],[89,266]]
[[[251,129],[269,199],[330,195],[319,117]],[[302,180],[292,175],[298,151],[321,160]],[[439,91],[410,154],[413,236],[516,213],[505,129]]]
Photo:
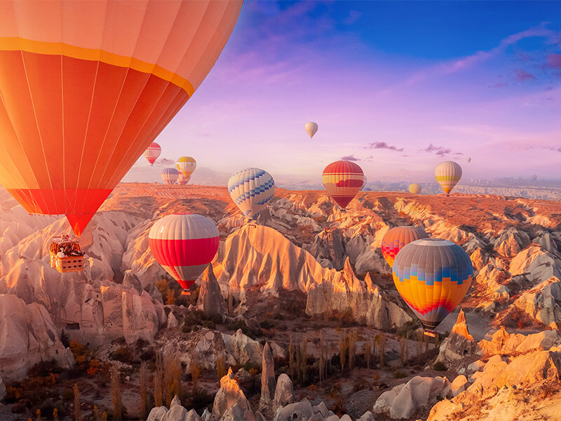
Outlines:
[[435,402],[437,396],[446,396],[450,390],[446,377],[415,376],[381,394],[372,411],[400,420],[409,419],[419,408]]

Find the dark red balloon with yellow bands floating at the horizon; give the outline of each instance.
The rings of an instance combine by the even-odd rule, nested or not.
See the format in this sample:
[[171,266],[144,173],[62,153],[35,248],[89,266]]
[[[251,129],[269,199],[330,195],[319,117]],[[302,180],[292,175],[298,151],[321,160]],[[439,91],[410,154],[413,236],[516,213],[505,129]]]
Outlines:
[[325,167],[323,186],[343,209],[353,200],[364,184],[363,169],[351,161],[335,161]]

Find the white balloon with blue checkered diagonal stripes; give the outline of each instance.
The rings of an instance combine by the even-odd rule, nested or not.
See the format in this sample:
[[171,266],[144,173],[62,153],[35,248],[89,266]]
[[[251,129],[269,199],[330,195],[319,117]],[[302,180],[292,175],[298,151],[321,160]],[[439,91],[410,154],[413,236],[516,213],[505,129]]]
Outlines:
[[248,168],[231,175],[228,192],[243,215],[255,219],[275,194],[275,180],[260,168]]

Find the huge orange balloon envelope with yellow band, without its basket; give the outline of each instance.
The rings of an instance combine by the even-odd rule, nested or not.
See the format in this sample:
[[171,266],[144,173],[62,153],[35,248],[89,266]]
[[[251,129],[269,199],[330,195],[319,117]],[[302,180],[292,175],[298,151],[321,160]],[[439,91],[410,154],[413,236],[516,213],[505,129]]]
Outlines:
[[0,182],[81,234],[208,74],[241,4],[0,1]]

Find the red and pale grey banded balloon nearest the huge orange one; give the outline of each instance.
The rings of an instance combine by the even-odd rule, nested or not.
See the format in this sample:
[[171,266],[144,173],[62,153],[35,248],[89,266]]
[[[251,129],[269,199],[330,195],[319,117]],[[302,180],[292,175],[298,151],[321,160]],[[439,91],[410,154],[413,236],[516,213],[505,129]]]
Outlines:
[[215,257],[219,239],[215,222],[196,213],[164,216],[148,234],[154,258],[184,290]]

